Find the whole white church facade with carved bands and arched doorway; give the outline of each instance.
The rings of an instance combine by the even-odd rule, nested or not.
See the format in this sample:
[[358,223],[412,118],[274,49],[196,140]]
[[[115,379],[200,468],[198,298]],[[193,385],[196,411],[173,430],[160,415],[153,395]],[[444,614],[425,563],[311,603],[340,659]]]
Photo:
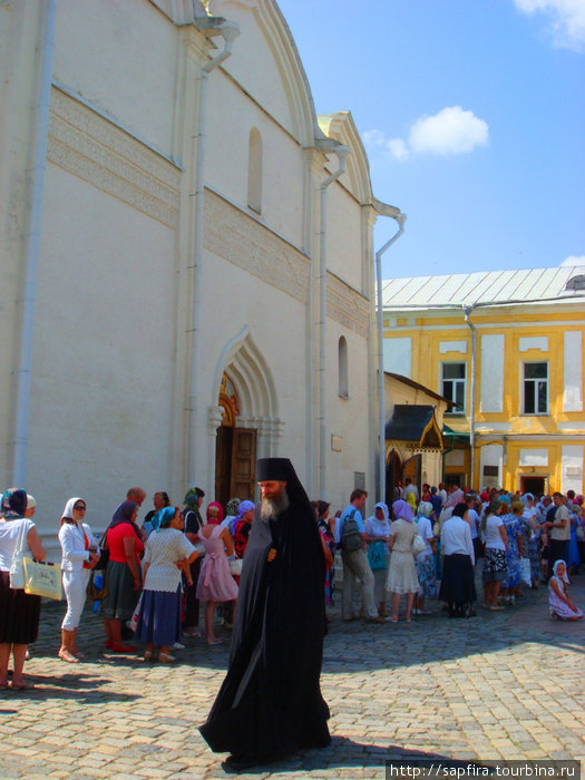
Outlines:
[[131,485],[244,498],[270,455],[372,495],[399,212],[276,2],[4,0],[0,67],[0,486],[43,538],[70,496],[98,530]]

